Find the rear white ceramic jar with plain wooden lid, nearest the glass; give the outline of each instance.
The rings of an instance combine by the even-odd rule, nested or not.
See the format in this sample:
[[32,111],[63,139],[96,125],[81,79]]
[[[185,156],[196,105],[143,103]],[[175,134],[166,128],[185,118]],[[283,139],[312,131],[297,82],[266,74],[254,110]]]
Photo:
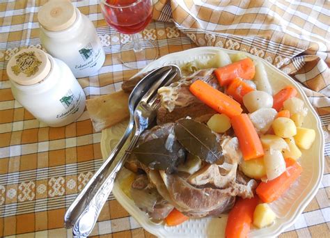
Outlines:
[[93,23],[68,0],[51,0],[38,11],[40,41],[77,78],[96,74],[105,59]]

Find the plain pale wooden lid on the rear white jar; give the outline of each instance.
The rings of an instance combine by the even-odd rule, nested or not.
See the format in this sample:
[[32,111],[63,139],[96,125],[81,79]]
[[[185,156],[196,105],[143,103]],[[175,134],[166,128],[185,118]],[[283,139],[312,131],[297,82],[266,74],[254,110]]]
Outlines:
[[51,0],[38,12],[38,22],[48,31],[68,29],[76,18],[76,10],[69,0]]

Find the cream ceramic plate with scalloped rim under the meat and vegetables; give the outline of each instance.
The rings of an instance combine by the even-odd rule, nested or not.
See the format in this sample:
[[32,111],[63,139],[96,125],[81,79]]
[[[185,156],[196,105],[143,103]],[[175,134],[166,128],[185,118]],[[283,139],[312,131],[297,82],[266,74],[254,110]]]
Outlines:
[[[238,52],[227,49],[219,49],[217,47],[198,47],[188,49],[186,51],[163,56],[162,58],[157,59],[157,61],[153,61],[147,65],[147,67],[141,70],[141,72],[148,72],[149,70],[162,65],[175,64],[181,66],[184,63],[195,59],[201,60],[212,58],[212,56],[214,56],[214,54],[219,50],[226,51],[228,54],[236,54]],[[248,55],[252,59],[258,58],[257,56],[253,56],[251,54]],[[267,228],[262,228],[259,230],[252,229],[250,232],[250,237],[274,237],[283,232],[285,228],[292,225],[298,218],[299,214],[304,211],[304,208],[315,196],[322,179],[324,167],[324,138],[320,119],[317,117],[317,114],[315,113],[310,102],[308,102],[305,93],[287,74],[276,69],[267,61],[262,61],[265,64],[269,81],[271,82],[275,93],[287,85],[297,88],[298,97],[304,100],[306,106],[308,107],[308,115],[304,121],[304,127],[315,129],[316,139],[310,150],[302,150],[303,155],[299,162],[304,168],[304,171],[301,173],[301,176],[297,182],[295,182],[289,191],[280,199],[270,204],[278,216],[276,223]],[[113,148],[118,142],[120,136],[125,130],[126,123],[127,122],[122,122],[115,127],[103,130],[101,150],[104,158],[108,156],[111,148]],[[125,169],[121,171],[115,187],[113,188],[113,195],[127,210],[127,212],[129,212],[129,214],[131,214],[144,229],[148,230],[148,232],[157,235],[157,237],[224,237],[227,216],[223,216],[221,218],[190,219],[189,221],[175,227],[152,223],[148,219],[148,216],[144,212],[141,212],[140,209],[134,205],[134,202],[130,200],[118,186],[120,180],[123,180],[128,173],[128,170]]]

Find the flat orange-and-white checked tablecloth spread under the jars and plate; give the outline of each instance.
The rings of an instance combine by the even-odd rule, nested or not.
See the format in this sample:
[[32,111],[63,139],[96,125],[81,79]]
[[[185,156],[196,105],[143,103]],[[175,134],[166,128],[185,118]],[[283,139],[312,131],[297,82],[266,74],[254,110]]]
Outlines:
[[[6,63],[21,47],[42,48],[36,13],[43,3],[0,1],[0,237],[70,237],[71,230],[63,228],[65,209],[102,164],[101,133],[93,130],[87,111],[68,126],[47,127],[11,93]],[[97,1],[74,4],[97,27],[107,54],[99,74],[78,79],[79,84],[88,98],[120,90],[123,80],[138,72],[118,60],[120,44],[129,38],[107,26]],[[151,22],[143,37],[156,40],[160,56],[196,47],[172,22]],[[323,125],[328,120],[322,120]],[[281,237],[329,235],[329,149],[326,155],[320,190]],[[153,237],[112,194],[91,236]]]

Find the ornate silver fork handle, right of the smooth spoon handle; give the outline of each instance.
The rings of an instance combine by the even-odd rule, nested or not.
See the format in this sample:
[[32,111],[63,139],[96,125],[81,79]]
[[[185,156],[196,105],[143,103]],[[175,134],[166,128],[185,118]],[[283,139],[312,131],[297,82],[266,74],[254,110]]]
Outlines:
[[[132,148],[134,148],[136,142],[139,139],[139,135],[139,133],[134,134],[132,141],[127,147],[127,150],[132,150]],[[76,223],[74,223],[72,230],[74,237],[87,237],[92,232],[97,218],[100,215],[101,209],[113,189],[117,174],[123,167],[124,162],[128,156],[129,154],[125,152],[123,157],[119,157],[119,159],[116,158],[115,161],[113,161],[114,166],[109,168],[107,179],[104,180],[100,189],[91,199],[91,203],[89,203],[88,207],[84,209],[84,212],[82,212]]]

